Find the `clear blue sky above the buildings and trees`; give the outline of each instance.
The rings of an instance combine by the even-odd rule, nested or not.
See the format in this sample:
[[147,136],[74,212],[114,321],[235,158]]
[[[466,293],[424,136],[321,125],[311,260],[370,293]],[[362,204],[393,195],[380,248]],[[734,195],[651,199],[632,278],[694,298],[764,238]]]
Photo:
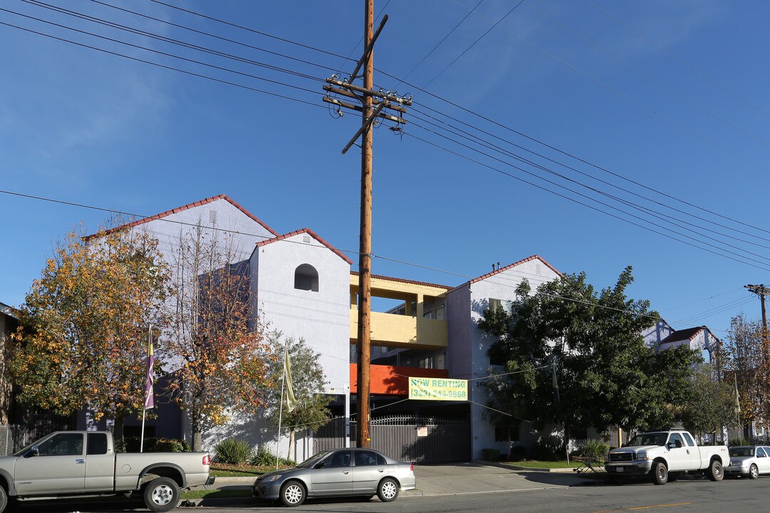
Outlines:
[[[252,31],[146,0],[45,5],[241,60],[40,3],[0,6],[2,23],[273,93],[0,25],[0,301],[23,301],[56,238],[108,216],[7,192],[137,215],[226,194],[276,232],[308,227],[357,250],[360,158],[357,148],[340,151],[360,118],[335,119],[318,93],[323,78],[352,71],[340,55],[360,56],[363,2],[168,2]],[[384,258],[374,259],[373,272],[459,285],[498,261],[538,254],[560,271],[585,271],[601,288],[631,265],[631,296],[648,298],[675,328],[708,325],[723,337],[731,316],[758,318],[759,301],[743,285],[770,283],[770,5],[514,5],[377,0],[376,12],[390,19],[375,49],[374,81],[412,94],[415,104],[403,135],[385,125],[375,132],[373,253]],[[431,127],[428,115],[487,147],[444,132],[446,124]]]

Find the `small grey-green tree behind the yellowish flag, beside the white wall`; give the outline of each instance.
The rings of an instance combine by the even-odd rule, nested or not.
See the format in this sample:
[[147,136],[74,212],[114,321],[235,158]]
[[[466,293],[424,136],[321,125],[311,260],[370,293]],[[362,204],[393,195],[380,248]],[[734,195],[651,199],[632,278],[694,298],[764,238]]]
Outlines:
[[[323,394],[323,388],[328,381],[323,375],[323,368],[318,361],[318,354],[307,345],[303,338],[295,340],[287,338],[282,341],[280,331],[273,331],[270,335],[273,341],[273,351],[278,358],[271,369],[273,388],[270,392],[269,404],[279,405],[283,400],[283,410],[278,406],[269,412],[269,418],[274,425],[280,425],[282,434],[289,435],[289,455],[291,458],[296,444],[296,431],[316,431],[329,421],[330,412],[326,408],[332,400],[331,395]],[[281,395],[281,379],[283,376],[283,351],[288,348],[291,365],[292,388],[296,405],[289,411],[286,405],[286,395]]]

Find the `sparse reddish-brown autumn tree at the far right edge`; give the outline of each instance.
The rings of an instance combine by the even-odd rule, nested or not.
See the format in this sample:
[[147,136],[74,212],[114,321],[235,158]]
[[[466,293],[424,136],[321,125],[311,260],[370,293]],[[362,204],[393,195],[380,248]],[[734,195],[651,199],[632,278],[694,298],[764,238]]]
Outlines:
[[762,331],[761,323],[738,315],[722,349],[725,371],[738,387],[745,425],[770,420],[770,358]]

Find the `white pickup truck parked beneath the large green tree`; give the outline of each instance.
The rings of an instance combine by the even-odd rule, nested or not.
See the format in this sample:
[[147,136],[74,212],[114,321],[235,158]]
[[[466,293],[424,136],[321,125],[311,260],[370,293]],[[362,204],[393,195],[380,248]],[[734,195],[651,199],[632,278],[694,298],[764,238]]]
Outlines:
[[703,474],[711,481],[725,477],[730,456],[725,445],[695,445],[688,431],[651,431],[634,436],[628,444],[604,457],[611,481],[648,475],[655,485],[665,485],[683,474]]

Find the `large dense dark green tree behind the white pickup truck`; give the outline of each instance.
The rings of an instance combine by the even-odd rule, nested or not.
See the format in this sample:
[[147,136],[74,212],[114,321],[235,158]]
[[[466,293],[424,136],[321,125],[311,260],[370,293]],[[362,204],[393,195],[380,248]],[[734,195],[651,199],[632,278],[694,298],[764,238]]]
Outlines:
[[480,328],[496,338],[490,361],[511,373],[487,383],[490,407],[533,421],[535,428],[563,425],[565,444],[574,429],[670,422],[671,405],[688,397],[697,355],[687,348],[655,354],[644,345],[641,332],[658,314],[648,301],[626,296],[632,281],[630,267],[601,291],[584,273],[544,283],[534,294],[523,281],[510,313],[485,311]]

